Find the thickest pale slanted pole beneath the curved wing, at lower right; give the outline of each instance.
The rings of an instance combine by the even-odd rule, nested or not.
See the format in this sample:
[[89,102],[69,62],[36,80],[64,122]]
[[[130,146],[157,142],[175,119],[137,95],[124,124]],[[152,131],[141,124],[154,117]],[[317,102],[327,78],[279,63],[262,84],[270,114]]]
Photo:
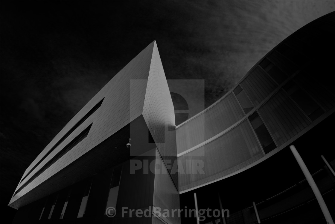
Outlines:
[[290,145],[290,149],[296,159],[296,161],[298,162],[301,170],[303,171],[306,180],[308,181],[308,184],[311,186],[313,193],[315,194],[315,197],[319,203],[319,206],[322,210],[323,215],[325,216],[325,219],[327,221],[328,224],[334,224],[332,217],[330,216],[330,213],[328,211],[328,208],[326,206],[325,201],[323,200],[323,197],[319,191],[318,186],[316,185],[315,181],[313,180],[313,177],[311,175],[311,173],[308,171],[303,159],[301,158],[301,156],[299,155],[298,151],[296,150],[296,148],[294,147],[294,145]]

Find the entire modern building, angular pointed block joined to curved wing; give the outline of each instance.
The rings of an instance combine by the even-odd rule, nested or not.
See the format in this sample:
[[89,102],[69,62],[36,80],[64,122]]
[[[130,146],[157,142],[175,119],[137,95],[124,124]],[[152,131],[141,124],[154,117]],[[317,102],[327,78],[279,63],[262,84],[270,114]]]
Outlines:
[[153,41],[26,169],[14,223],[327,223],[292,144],[335,220],[334,40],[333,12],[177,126]]

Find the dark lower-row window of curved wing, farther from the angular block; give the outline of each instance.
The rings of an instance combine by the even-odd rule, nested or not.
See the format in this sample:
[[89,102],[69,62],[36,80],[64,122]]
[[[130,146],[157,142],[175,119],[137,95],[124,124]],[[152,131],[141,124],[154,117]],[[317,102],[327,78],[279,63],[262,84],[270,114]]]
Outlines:
[[288,82],[284,89],[312,121],[324,113],[323,109],[294,82]]

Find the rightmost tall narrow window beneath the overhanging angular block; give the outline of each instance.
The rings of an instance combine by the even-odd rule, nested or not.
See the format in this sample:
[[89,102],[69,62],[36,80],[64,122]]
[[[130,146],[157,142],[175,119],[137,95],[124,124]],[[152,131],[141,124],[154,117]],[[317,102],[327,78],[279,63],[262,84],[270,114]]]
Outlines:
[[[116,167],[113,170],[113,176],[112,176],[111,185],[109,189],[106,209],[109,207],[116,208],[116,202],[117,202],[118,193],[119,193],[119,184],[120,184],[120,179],[121,179],[121,171],[122,171],[122,166]],[[113,215],[115,211],[110,211],[110,213],[111,213],[110,215]]]

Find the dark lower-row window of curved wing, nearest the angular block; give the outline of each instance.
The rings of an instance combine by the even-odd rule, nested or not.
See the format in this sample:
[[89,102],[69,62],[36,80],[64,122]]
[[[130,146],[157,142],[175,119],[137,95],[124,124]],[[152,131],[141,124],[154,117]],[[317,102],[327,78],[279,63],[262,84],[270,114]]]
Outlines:
[[276,144],[274,143],[271,135],[269,134],[269,131],[266,129],[262,119],[259,117],[257,112],[253,113],[249,117],[249,121],[256,132],[256,135],[263,147],[265,154],[275,149]]

